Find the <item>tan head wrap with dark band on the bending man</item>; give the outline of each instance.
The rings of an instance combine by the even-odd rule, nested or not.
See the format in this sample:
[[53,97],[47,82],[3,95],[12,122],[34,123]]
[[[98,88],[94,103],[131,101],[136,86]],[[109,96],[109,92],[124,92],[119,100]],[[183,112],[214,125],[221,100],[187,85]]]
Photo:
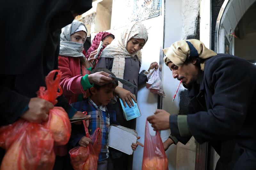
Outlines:
[[[163,52],[165,55],[164,63],[166,65],[171,61],[179,67],[191,55],[196,55],[202,59],[217,55],[214,51],[206,48],[203,42],[196,39],[176,41],[171,47],[164,48]],[[201,63],[200,66],[201,70],[204,70],[204,63]]]

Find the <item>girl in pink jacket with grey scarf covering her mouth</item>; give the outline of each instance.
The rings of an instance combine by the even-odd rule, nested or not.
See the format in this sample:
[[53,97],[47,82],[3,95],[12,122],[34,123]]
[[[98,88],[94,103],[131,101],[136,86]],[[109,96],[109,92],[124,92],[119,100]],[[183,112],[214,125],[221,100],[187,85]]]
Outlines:
[[87,89],[93,86],[87,78],[92,62],[89,62],[82,53],[86,36],[87,29],[84,23],[77,20],[61,29],[58,57],[59,69],[62,72],[60,86],[69,104],[88,97]]

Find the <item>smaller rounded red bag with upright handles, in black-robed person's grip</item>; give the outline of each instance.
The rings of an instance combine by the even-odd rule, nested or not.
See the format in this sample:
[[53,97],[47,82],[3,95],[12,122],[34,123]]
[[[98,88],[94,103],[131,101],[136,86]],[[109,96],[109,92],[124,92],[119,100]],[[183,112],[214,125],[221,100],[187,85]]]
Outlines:
[[[62,94],[62,89],[59,85],[60,77],[60,70],[52,70],[45,77],[47,89],[40,87],[37,97],[56,104],[56,98]],[[60,89],[60,92],[58,92],[58,89]],[[49,113],[49,120],[43,124],[52,131],[54,145],[65,145],[68,143],[71,135],[71,123],[67,112],[62,107],[53,107]]]

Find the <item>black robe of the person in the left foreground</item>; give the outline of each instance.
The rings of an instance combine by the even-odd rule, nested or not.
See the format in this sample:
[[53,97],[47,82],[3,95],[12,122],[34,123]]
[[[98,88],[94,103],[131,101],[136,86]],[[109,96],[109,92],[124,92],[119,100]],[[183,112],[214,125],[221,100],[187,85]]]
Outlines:
[[[58,69],[60,29],[92,8],[92,0],[8,0],[0,5],[0,124],[12,123]],[[71,107],[63,98],[58,106]]]

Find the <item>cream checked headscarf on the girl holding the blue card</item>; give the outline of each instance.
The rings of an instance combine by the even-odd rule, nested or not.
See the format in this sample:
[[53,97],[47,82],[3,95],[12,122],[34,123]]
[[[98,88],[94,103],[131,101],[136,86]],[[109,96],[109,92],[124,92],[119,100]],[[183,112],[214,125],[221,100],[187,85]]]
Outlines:
[[[125,58],[131,58],[137,55],[139,61],[141,62],[141,52],[138,51],[134,54],[129,54],[126,47],[127,42],[131,38],[141,38],[145,40],[146,44],[148,41],[148,32],[146,27],[140,23],[135,22],[130,26],[127,26],[124,29],[124,32],[120,37],[115,38],[111,44],[109,44],[101,53],[100,57],[114,58],[112,72],[116,75],[117,78],[124,78],[124,66],[125,66]],[[143,47],[142,46],[142,47]],[[119,87],[123,87],[123,84],[118,82]]]

